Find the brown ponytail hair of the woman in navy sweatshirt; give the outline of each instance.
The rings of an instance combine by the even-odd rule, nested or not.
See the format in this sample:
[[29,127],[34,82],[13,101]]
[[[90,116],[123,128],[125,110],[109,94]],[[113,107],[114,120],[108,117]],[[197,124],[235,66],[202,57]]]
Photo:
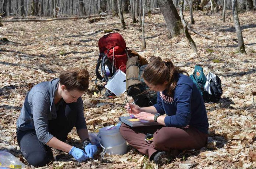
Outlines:
[[144,80],[153,85],[164,84],[167,81],[167,94],[173,96],[173,91],[177,85],[178,74],[186,73],[188,75],[188,73],[174,66],[170,59],[164,59],[163,61],[159,57],[152,57],[150,60],[151,62],[147,65],[142,75]]

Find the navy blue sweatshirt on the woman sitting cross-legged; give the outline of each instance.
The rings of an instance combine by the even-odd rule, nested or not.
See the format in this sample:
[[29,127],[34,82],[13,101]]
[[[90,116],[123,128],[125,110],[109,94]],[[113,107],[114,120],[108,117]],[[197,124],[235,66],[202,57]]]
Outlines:
[[190,77],[178,75],[174,96],[167,95],[167,90],[157,93],[157,113],[166,114],[164,123],[170,127],[195,127],[208,133],[208,118],[203,98]]

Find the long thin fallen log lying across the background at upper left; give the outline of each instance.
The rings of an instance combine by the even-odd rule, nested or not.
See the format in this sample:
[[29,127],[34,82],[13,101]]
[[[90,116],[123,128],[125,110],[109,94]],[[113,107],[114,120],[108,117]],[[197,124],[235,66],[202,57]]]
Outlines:
[[1,22],[51,22],[57,20],[69,20],[69,19],[86,19],[90,17],[97,17],[100,15],[91,15],[91,16],[78,16],[78,17],[69,17],[69,18],[53,18],[53,19],[10,19],[10,20],[1,20]]

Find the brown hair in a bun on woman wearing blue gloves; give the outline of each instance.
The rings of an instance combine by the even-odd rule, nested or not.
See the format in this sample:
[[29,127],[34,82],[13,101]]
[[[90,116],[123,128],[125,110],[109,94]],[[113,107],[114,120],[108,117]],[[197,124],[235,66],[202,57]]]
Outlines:
[[86,91],[89,87],[89,72],[86,69],[70,69],[60,74],[60,84],[68,91]]

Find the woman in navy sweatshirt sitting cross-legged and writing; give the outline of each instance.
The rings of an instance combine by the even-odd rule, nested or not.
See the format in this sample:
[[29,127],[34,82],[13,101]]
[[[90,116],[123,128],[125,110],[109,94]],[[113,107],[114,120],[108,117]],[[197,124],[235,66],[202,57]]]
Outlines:
[[[157,91],[157,103],[150,107],[130,103],[125,106],[136,118],[159,123],[159,126],[131,128],[122,124],[120,127],[124,139],[156,164],[167,162],[166,158],[174,157],[179,150],[200,149],[207,143],[209,124],[203,98],[183,73],[188,74],[170,60],[153,58],[143,78],[151,90]],[[147,133],[153,134],[153,139],[146,142]]]

